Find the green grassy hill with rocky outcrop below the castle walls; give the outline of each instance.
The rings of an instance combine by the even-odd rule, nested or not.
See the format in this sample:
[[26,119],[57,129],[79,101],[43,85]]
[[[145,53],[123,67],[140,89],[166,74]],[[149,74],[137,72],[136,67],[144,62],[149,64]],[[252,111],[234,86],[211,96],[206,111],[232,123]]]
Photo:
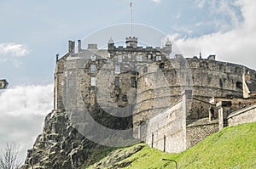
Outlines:
[[[139,150],[132,154],[133,149]],[[147,144],[117,149],[90,168],[175,168],[163,158],[177,161],[178,168],[256,168],[256,122],[225,127],[180,154]]]

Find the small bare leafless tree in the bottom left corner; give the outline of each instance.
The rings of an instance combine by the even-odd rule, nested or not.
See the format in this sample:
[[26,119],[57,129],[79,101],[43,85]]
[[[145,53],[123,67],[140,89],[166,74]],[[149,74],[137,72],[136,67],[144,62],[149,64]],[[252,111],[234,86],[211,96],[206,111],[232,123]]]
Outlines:
[[1,150],[0,168],[1,169],[18,169],[21,163],[18,160],[19,146],[17,144],[6,144],[5,149]]

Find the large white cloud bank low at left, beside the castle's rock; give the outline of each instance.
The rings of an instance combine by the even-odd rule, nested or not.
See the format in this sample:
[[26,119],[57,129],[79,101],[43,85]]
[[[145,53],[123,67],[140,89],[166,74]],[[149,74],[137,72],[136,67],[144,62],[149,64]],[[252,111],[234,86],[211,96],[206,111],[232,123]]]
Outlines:
[[42,132],[44,118],[53,110],[53,85],[23,86],[0,92],[0,147],[20,144],[20,160]]

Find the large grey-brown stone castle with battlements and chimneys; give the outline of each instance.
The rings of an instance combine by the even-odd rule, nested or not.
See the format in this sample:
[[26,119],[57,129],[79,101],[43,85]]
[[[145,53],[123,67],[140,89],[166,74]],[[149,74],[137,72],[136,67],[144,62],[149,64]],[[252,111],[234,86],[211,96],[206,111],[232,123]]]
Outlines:
[[[79,40],[75,49],[69,41],[68,53],[56,56],[55,110],[111,114],[114,124],[122,121],[122,130],[132,129],[133,138],[166,152],[188,149],[223,127],[256,121],[255,70],[215,55],[170,57],[169,40],[163,48],[143,48],[137,37],[125,44],[117,47],[110,38],[107,49],[84,49]],[[79,118],[73,115],[72,121]]]

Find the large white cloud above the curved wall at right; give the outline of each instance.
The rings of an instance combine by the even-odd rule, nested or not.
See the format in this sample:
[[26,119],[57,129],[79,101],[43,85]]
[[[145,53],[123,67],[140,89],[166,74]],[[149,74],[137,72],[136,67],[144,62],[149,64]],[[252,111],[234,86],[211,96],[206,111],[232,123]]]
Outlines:
[[178,35],[170,35],[178,48],[187,57],[202,53],[217,54],[218,60],[238,63],[256,68],[256,3],[250,0],[240,0],[241,12],[244,21],[233,30],[195,38],[180,38]]

